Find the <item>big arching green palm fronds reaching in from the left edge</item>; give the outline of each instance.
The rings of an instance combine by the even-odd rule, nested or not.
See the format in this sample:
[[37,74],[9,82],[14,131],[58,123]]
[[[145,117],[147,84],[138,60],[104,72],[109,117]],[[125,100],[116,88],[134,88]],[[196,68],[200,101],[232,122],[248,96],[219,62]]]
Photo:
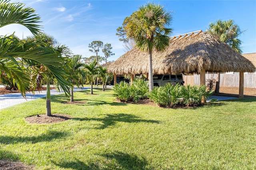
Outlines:
[[[28,28],[34,35],[40,32],[40,17],[34,14],[35,10],[24,7],[20,2],[11,3],[10,0],[0,0],[0,27],[8,24],[21,24]],[[25,42],[14,35],[1,37],[0,42],[0,69],[8,77],[12,77],[15,85],[25,97],[25,92],[30,87],[30,77],[20,64],[21,60],[37,62],[44,65],[60,84],[66,95],[69,94],[69,83],[63,75],[63,57],[60,51],[49,47],[41,41]]]

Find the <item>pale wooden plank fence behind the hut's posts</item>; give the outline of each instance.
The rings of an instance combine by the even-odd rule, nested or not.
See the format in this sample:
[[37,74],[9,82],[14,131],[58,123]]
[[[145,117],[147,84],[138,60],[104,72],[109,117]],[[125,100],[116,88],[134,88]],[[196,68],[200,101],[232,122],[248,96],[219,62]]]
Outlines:
[[[184,85],[200,85],[200,75],[183,75]],[[205,75],[206,84],[208,79],[215,79],[216,74]],[[220,74],[220,87],[239,87],[239,74]],[[256,73],[244,74],[244,87],[256,88]]]

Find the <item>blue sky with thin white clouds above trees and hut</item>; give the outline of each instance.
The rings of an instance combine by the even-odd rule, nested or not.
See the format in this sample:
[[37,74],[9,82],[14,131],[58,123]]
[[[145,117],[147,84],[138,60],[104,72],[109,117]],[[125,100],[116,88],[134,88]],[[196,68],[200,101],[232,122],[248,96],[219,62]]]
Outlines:
[[[126,16],[130,16],[139,6],[154,2],[164,6],[173,16],[173,34],[177,36],[197,30],[205,31],[210,22],[234,20],[245,32],[242,40],[243,53],[256,52],[256,0],[226,1],[175,1],[175,0],[11,0],[22,2],[36,10],[41,17],[42,30],[68,46],[74,54],[90,57],[92,41],[110,43],[116,60],[125,53],[123,43],[116,36],[116,29],[122,26]],[[12,24],[0,29],[0,34],[16,32],[22,38],[32,35],[24,26]],[[100,52],[99,55],[103,56]]]

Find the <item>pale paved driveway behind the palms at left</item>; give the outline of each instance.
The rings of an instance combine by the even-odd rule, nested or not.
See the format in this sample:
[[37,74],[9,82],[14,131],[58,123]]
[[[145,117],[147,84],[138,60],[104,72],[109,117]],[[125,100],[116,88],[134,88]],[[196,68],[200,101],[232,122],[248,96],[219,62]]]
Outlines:
[[[83,89],[78,89],[77,87],[74,87],[74,92],[80,91],[80,90],[86,90],[86,89],[90,89],[90,87],[83,87]],[[50,93],[52,96],[52,95],[62,94],[64,92],[58,92],[55,89],[52,89],[50,90]],[[10,106],[24,103],[27,101],[32,101],[34,99],[38,99],[42,97],[46,97],[46,90],[35,91],[34,95],[28,92],[26,93],[26,99],[22,97],[21,93],[10,93],[5,95],[0,95],[0,109],[4,109],[6,107],[10,107]]]

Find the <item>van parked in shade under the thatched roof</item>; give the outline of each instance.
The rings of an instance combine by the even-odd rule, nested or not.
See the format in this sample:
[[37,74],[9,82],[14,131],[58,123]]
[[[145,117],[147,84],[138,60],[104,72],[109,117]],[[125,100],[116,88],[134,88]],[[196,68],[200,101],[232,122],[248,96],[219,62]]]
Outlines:
[[154,86],[163,86],[166,83],[171,83],[172,85],[180,84],[184,85],[183,81],[183,76],[182,74],[158,74],[158,75],[153,75],[153,82]]

